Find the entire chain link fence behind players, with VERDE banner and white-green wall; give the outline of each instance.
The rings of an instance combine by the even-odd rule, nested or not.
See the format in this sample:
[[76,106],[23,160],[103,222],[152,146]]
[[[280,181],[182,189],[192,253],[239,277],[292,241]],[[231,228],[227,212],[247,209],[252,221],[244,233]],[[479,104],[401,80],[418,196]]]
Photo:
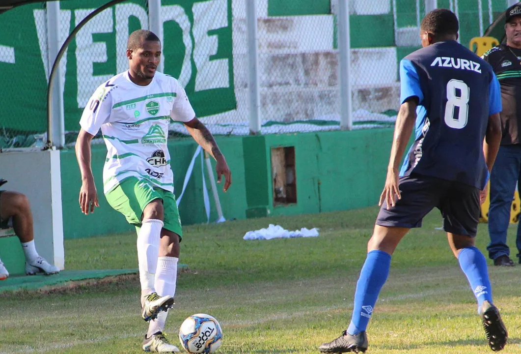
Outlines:
[[[129,33],[151,29],[153,0],[127,0],[90,20],[61,59],[66,143],[76,140],[96,87],[125,71]],[[158,0],[154,0],[158,1]],[[160,0],[163,70],[187,90],[197,116],[215,135],[250,133],[246,1]],[[340,128],[339,0],[254,0],[261,132]],[[60,45],[105,0],[60,2]],[[428,3],[460,17],[468,45],[507,6],[506,0],[349,0],[353,129],[390,127],[399,107],[399,63],[417,50]],[[45,3],[0,15],[0,148],[46,141],[49,75]],[[154,25],[154,24],[152,24]],[[20,40],[23,39],[23,40]],[[52,62],[51,62],[52,63]],[[170,136],[185,136],[180,123]],[[101,142],[101,139],[97,139]]]

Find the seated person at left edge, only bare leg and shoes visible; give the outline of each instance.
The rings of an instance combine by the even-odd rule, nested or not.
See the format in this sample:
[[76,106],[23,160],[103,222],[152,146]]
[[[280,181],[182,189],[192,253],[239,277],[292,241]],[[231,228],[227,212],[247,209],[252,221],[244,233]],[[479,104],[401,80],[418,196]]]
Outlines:
[[[7,181],[0,179],[0,186]],[[29,200],[22,193],[0,190],[0,228],[13,227],[20,239],[23,253],[26,256],[26,274],[56,274],[58,267],[44,260],[34,246],[33,221]],[[9,276],[4,263],[0,260],[0,280]]]

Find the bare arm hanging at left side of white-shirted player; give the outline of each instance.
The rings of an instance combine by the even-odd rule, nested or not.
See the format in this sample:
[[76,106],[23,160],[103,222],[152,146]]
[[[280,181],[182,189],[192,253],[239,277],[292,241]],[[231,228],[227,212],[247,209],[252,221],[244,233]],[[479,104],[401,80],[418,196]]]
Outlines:
[[80,207],[83,214],[89,210],[94,213],[94,206],[100,206],[97,200],[94,175],[91,168],[91,140],[94,136],[81,129],[76,139],[76,158],[81,172]]

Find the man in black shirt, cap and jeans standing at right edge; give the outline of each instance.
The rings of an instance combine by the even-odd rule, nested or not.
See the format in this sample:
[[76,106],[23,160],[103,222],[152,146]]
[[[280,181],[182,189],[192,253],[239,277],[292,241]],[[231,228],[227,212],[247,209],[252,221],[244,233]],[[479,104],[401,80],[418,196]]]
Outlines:
[[[512,266],[506,231],[516,184],[521,181],[521,5],[505,13],[506,44],[483,55],[501,84],[501,147],[490,176],[489,258],[495,265]],[[517,228],[517,257],[521,255],[521,224]],[[519,258],[521,263],[521,258]]]

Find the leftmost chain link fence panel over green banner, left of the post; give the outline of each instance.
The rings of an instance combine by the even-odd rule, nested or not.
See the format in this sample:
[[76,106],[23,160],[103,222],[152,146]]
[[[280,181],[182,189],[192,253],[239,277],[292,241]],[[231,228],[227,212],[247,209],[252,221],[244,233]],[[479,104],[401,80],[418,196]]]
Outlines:
[[27,147],[47,129],[45,4],[0,15],[0,31],[0,148]]

